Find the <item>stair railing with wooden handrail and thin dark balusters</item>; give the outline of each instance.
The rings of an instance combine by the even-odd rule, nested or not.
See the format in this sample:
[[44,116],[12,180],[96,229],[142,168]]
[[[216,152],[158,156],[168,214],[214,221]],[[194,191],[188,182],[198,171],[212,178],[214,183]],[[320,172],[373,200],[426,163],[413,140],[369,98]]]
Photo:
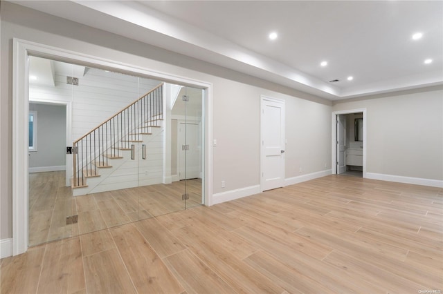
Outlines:
[[[90,136],[91,137],[91,134],[94,134],[94,141],[96,141],[96,137],[95,137],[95,132],[98,130],[98,137],[99,137],[99,139],[100,139],[100,128],[103,128],[103,126],[105,126],[105,125],[107,125],[108,123],[110,123],[113,119],[116,119],[116,117],[118,117],[118,115],[122,115],[122,114],[124,114],[125,113],[125,111],[129,111],[129,109],[132,109],[132,106],[135,106],[136,104],[138,104],[139,102],[141,102],[143,99],[145,99],[146,97],[148,97],[149,95],[151,95],[152,93],[154,93],[156,90],[159,90],[160,88],[161,88],[161,93],[163,92],[163,84],[164,83],[161,83],[161,84],[159,84],[158,86],[156,86],[155,88],[152,88],[152,90],[150,90],[150,91],[148,91],[148,92],[146,92],[144,95],[142,95],[141,97],[139,97],[138,99],[136,99],[135,101],[133,101],[131,104],[129,104],[129,105],[127,105],[127,106],[125,106],[125,108],[123,108],[122,110],[120,110],[120,111],[118,111],[118,112],[116,112],[116,114],[115,115],[113,115],[113,116],[111,116],[111,117],[109,117],[108,119],[106,119],[105,121],[103,121],[101,124],[99,124],[98,126],[96,126],[96,128],[93,128],[92,130],[90,130],[87,134],[85,134],[85,135],[83,135],[82,137],[80,137],[79,139],[76,139],[75,141],[73,141],[73,151],[72,151],[72,153],[73,153],[73,186],[80,186],[80,175],[78,175],[78,167],[77,167],[77,161],[78,161],[78,159],[76,158],[76,155],[78,154],[78,144],[79,144],[79,142],[80,141],[82,141],[82,140],[84,140],[84,139],[86,139],[86,141],[87,141],[87,138],[88,138],[88,136]],[[156,97],[156,98],[158,98],[158,97]],[[161,97],[161,100],[162,100],[162,102],[161,102],[161,107],[162,107],[162,111],[163,111],[163,97]],[[157,107],[157,106],[156,106]],[[143,108],[143,106],[142,106],[142,108]],[[152,111],[152,105],[151,105],[151,110],[147,110],[146,109],[147,108],[147,106],[145,106],[145,111],[147,111],[147,112],[150,112],[150,111]],[[137,110],[138,111],[138,110]],[[161,113],[156,113],[156,115],[160,115]],[[128,113],[128,115],[129,115],[129,113]],[[136,110],[134,110],[134,114],[132,114],[131,113],[131,115],[135,115],[136,116],[136,119],[140,119],[140,118],[142,118],[142,117],[138,117],[138,113],[136,113]],[[152,115],[152,112],[151,112],[151,115]],[[154,117],[156,116],[156,115],[154,115]],[[144,116],[145,118],[147,118],[147,119],[152,119],[152,117],[147,117],[147,115],[145,115]],[[132,119],[134,119],[134,117],[132,117]],[[143,119],[143,118],[142,118]],[[132,124],[134,122],[134,125]],[[145,121],[145,122],[147,122],[147,121]],[[139,126],[140,126],[140,124],[143,124],[143,123],[145,123],[144,121],[131,121],[131,125],[132,125],[132,129],[129,129],[129,118],[128,118],[128,128],[126,128],[126,126],[125,126],[125,130],[128,130],[128,132],[127,133],[125,133],[125,134],[123,134],[123,130],[121,130],[121,132],[120,132],[120,135],[121,135],[121,139],[123,139],[123,138],[125,138],[125,137],[128,137],[129,135],[130,135],[130,133],[131,132],[133,132],[134,131],[134,129],[135,128],[138,128]],[[120,119],[120,123],[121,123],[121,119]],[[114,126],[115,126],[115,124],[114,124]],[[117,127],[118,127],[118,119],[117,119]],[[114,134],[110,134],[110,136],[112,136],[112,135],[114,135],[115,136],[115,131],[114,131]],[[118,134],[118,130],[117,130],[117,136],[118,136],[119,134]],[[103,136],[103,134],[102,134],[102,136]],[[110,137],[111,138],[111,137]],[[107,139],[107,138],[106,138]],[[111,140],[112,140],[112,138],[111,138]],[[114,145],[115,144],[118,144],[118,140],[120,140],[119,138],[117,138],[117,141],[115,141],[115,139],[114,139]],[[91,143],[91,139],[90,139],[90,143]],[[96,150],[94,150],[94,157],[92,157],[91,155],[89,155],[89,161],[88,161],[88,155],[87,155],[87,159],[86,159],[86,166],[88,167],[88,164],[89,165],[91,165],[92,164],[92,161],[93,161],[93,159],[96,159],[96,158],[99,158],[99,160],[100,160],[100,156],[101,155],[105,155],[105,153],[107,153],[107,150],[109,150],[109,149],[111,149],[111,148],[113,148],[114,147],[114,145],[113,144],[110,144],[109,146],[106,144],[106,149],[104,148],[105,147],[105,145],[103,145],[102,147],[102,150],[100,151],[100,146],[99,146],[99,148],[98,148],[98,150],[99,150],[99,153],[102,153],[102,154],[99,154],[98,156],[95,156],[96,155]],[[95,147],[94,147],[95,148]],[[82,149],[83,149],[83,146],[82,146]],[[91,150],[91,146],[89,147],[89,149],[90,149],[90,151],[91,151],[91,153],[92,153],[92,150]],[[82,160],[82,166],[84,166],[84,164],[83,164],[83,160]],[[80,167],[80,166],[79,166]],[[82,184],[84,184],[84,171],[82,171]],[[77,181],[77,182],[75,182],[75,181]],[[76,183],[76,185],[74,185]]]

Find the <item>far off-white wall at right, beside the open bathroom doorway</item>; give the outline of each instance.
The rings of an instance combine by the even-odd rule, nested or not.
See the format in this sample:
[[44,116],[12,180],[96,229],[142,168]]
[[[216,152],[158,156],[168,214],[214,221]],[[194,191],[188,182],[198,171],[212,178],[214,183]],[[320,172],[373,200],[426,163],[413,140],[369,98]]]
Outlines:
[[367,109],[368,176],[443,181],[442,88],[341,101],[333,106],[334,111]]

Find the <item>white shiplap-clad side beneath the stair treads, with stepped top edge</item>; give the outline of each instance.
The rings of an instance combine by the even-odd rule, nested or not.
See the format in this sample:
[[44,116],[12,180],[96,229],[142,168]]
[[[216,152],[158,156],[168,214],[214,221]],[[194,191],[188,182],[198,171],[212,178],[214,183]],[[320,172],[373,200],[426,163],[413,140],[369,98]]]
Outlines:
[[[136,143],[136,159],[130,150],[120,150],[123,158],[108,159],[110,168],[98,168],[100,177],[88,177],[87,187],[73,189],[73,195],[87,195],[110,190],[161,184],[163,182],[163,128],[151,128],[151,135],[141,135]],[[142,158],[142,144],[146,145],[146,159]],[[138,165],[139,164],[139,165]],[[138,180],[140,179],[140,181]]]

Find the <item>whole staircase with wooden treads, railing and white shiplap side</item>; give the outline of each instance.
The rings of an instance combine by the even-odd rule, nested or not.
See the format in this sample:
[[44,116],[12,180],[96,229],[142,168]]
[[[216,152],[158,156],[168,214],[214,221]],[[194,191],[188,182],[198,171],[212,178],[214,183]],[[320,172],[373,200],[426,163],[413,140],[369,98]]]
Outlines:
[[[137,186],[134,160],[143,159],[147,175],[155,158],[163,156],[163,84],[138,98],[73,143],[73,195],[86,195]],[[148,150],[154,154],[147,156]],[[122,172],[122,170],[134,170]],[[154,169],[155,173],[155,167]],[[136,173],[134,175],[134,173]],[[157,173],[159,173],[157,171]],[[119,179],[116,182],[115,179]],[[161,174],[161,173],[160,173]],[[132,175],[132,176],[129,176]],[[161,182],[151,177],[152,184]],[[114,177],[114,179],[112,179]]]

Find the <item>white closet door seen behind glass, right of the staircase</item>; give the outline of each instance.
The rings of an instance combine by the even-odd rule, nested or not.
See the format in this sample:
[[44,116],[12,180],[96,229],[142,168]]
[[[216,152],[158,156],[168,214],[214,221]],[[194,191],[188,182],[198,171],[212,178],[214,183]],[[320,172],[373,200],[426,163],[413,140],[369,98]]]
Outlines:
[[180,179],[200,177],[199,124],[179,124]]

